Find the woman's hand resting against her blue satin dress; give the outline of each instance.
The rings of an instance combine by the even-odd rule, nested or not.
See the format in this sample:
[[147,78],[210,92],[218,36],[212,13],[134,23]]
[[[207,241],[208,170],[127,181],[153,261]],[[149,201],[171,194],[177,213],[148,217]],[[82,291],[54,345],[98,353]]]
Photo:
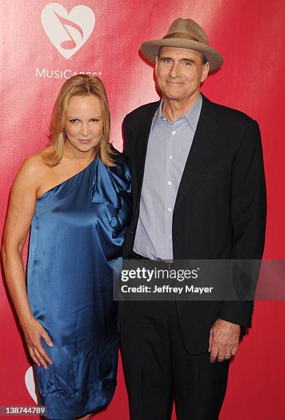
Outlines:
[[23,326],[23,332],[27,343],[27,349],[34,362],[40,366],[44,366],[47,369],[47,362],[53,364],[47,352],[42,347],[41,338],[45,340],[49,347],[53,346],[51,338],[42,324],[39,323],[35,318],[32,318],[28,323]]

